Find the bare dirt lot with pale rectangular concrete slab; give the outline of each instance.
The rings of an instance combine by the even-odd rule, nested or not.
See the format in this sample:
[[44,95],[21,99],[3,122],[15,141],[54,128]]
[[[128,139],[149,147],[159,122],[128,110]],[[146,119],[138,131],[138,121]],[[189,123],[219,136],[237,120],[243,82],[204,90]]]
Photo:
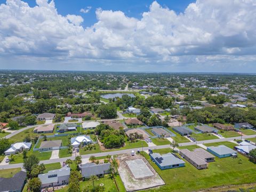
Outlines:
[[124,154],[119,159],[118,171],[126,191],[136,191],[165,185],[158,173],[141,155]]

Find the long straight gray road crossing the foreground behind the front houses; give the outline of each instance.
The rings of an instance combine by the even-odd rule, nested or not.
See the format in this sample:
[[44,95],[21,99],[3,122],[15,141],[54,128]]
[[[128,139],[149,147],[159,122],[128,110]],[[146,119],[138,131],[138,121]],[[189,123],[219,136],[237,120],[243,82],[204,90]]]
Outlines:
[[[243,139],[249,139],[249,138],[254,138],[254,137],[256,137],[256,134],[254,134],[254,135],[244,135],[242,138]],[[195,144],[204,144],[204,143],[221,142],[221,141],[231,141],[231,140],[234,140],[234,139],[241,139],[241,136],[233,137],[233,138],[204,140],[204,141],[197,141],[197,142],[186,142],[186,143],[180,143],[179,145],[180,146],[191,146],[191,145],[195,145]],[[169,147],[170,147],[170,145],[143,147],[143,150],[148,150],[148,149],[164,149],[164,148],[169,148]],[[95,157],[101,157],[101,156],[106,156],[106,155],[119,155],[119,154],[131,153],[132,150],[134,150],[134,151],[142,150],[142,146],[140,148],[107,151],[107,152],[101,152],[101,153],[95,153],[95,154],[87,154],[87,155],[82,155],[82,158],[89,158],[92,155],[95,156]],[[65,162],[67,159],[74,160],[75,157],[65,157],[65,158],[49,159],[49,160],[45,160],[45,161],[40,161],[40,163],[44,163],[44,164],[58,163],[58,162],[61,163],[61,162]],[[23,163],[9,164],[9,165],[0,165],[0,170],[2,170],[2,169],[12,169],[12,168],[18,168],[18,167],[22,168],[23,167]]]

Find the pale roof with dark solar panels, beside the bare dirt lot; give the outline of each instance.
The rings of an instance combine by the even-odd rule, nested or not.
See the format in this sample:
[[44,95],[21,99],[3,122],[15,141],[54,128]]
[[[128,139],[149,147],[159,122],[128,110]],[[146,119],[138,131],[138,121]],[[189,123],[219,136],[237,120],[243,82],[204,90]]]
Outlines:
[[167,153],[164,155],[160,155],[159,153],[153,153],[150,156],[153,157],[155,161],[157,161],[161,166],[169,166],[169,165],[185,163],[180,158],[175,157],[171,153]]

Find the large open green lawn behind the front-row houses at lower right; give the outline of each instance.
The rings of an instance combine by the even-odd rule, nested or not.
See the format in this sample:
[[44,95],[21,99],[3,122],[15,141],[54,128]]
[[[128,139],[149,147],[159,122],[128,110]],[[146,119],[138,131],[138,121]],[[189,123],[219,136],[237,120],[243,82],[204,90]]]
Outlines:
[[[162,171],[150,160],[149,155],[146,154],[145,157],[166,182],[165,186],[157,189],[160,192],[190,192],[222,185],[239,185],[241,183],[256,182],[256,165],[239,154],[238,158],[215,158],[215,162],[209,163],[209,169],[204,170],[197,170],[186,159],[182,159],[186,162],[185,167]],[[146,191],[156,191],[156,189]]]

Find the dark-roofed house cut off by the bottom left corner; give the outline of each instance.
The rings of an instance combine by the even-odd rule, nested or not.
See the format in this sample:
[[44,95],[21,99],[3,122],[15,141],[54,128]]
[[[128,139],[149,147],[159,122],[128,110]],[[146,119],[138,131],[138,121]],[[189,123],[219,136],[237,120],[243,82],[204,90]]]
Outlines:
[[0,191],[21,192],[25,185],[27,173],[20,171],[13,175],[12,178],[0,178]]

